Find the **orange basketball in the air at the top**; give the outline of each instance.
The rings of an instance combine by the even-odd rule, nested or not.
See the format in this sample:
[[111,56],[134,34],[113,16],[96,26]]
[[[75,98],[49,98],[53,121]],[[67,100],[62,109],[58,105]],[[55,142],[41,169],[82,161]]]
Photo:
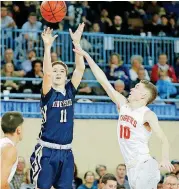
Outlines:
[[40,12],[46,21],[51,23],[60,22],[67,12],[66,3],[64,1],[43,1]]

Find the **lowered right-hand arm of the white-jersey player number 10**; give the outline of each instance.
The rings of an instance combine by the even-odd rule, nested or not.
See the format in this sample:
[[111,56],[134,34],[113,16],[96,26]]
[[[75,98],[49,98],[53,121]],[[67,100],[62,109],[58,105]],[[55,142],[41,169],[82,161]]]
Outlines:
[[157,137],[161,140],[162,142],[162,161],[160,163],[160,167],[164,167],[167,169],[169,172],[171,172],[174,167],[169,161],[169,143],[168,139],[165,136],[163,130],[161,129],[158,118],[156,114],[152,111],[148,111],[144,115],[144,122],[148,122],[150,124],[150,127],[152,130],[156,133]]

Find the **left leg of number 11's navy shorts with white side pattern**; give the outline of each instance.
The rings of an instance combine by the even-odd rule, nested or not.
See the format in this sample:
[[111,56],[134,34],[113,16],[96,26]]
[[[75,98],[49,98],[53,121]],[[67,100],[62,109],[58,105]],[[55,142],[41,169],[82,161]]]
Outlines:
[[37,144],[30,158],[31,182],[39,189],[50,189],[54,182],[55,169],[50,164],[54,157],[53,149]]

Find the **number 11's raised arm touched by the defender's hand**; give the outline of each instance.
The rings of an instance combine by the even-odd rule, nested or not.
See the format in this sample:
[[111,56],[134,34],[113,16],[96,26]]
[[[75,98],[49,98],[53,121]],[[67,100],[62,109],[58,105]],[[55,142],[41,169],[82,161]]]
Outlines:
[[[70,36],[73,40],[73,44],[75,46],[75,48],[81,48],[80,47],[80,39],[81,39],[81,35],[83,33],[83,29],[84,29],[85,24],[79,24],[78,29],[73,33],[71,31],[71,29],[69,29],[70,31]],[[77,87],[79,86],[82,77],[83,77],[83,73],[85,71],[85,63],[84,63],[84,58],[82,55],[79,55],[77,53],[75,53],[75,70],[73,72],[73,76],[71,79],[71,82],[73,83],[74,87],[77,89]]]

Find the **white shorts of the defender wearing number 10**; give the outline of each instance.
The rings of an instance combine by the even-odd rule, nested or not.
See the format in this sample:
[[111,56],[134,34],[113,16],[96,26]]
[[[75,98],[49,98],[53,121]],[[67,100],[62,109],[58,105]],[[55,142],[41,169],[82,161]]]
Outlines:
[[159,165],[151,158],[128,169],[127,176],[131,189],[157,189],[160,181]]

